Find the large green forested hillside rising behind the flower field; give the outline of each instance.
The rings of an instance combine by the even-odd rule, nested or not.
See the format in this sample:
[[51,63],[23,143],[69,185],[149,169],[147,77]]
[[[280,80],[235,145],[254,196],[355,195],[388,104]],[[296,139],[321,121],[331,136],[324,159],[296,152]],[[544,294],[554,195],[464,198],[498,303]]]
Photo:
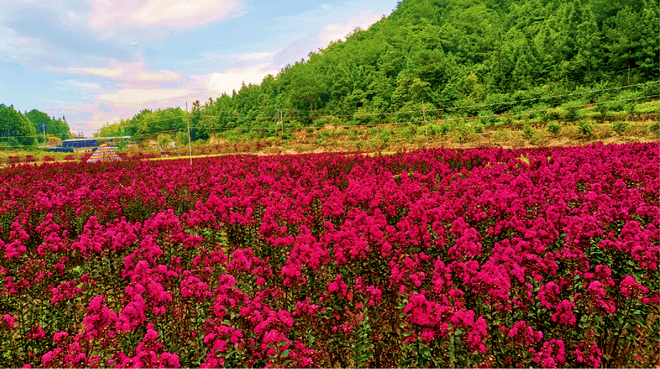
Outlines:
[[[660,78],[659,26],[657,0],[404,0],[368,30],[260,85],[195,104],[191,125],[205,138],[239,127],[274,132],[279,111],[304,126],[328,115],[356,124],[412,119],[391,112],[482,105],[452,112],[475,116],[648,98],[657,84],[619,87]],[[606,91],[544,98],[599,89]],[[509,101],[516,103],[497,104]],[[145,111],[104,130],[182,128],[183,113]]]

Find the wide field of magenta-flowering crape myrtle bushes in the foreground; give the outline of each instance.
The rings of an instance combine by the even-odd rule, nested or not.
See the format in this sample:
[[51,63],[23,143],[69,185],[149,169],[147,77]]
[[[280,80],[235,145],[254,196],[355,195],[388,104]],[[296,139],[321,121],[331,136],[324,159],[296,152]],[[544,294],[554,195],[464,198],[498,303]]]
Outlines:
[[658,143],[0,171],[0,366],[658,365]]

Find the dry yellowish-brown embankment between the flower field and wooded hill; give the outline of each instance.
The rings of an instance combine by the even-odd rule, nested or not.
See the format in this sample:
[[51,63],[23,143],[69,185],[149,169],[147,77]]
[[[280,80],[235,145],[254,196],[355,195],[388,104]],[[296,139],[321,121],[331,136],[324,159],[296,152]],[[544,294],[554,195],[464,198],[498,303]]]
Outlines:
[[470,129],[452,130],[446,133],[433,132],[428,127],[416,126],[406,131],[396,126],[373,128],[334,128],[323,130],[301,130],[289,141],[275,142],[272,146],[250,150],[255,154],[298,154],[343,151],[399,151],[402,149],[425,149],[437,147],[479,148],[503,147],[523,148],[542,146],[583,146],[602,142],[606,145],[630,142],[659,142],[657,116],[655,120],[628,121],[627,126],[610,122],[591,121],[589,126],[578,123],[562,123],[558,132],[551,133],[547,127],[523,126],[497,127],[476,133]]

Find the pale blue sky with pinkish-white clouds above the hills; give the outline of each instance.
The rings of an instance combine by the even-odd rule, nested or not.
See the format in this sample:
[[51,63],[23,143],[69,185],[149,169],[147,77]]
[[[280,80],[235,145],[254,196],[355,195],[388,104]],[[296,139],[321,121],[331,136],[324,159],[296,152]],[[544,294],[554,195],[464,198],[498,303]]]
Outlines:
[[366,29],[397,0],[0,0],[0,103],[91,136],[219,97]]

